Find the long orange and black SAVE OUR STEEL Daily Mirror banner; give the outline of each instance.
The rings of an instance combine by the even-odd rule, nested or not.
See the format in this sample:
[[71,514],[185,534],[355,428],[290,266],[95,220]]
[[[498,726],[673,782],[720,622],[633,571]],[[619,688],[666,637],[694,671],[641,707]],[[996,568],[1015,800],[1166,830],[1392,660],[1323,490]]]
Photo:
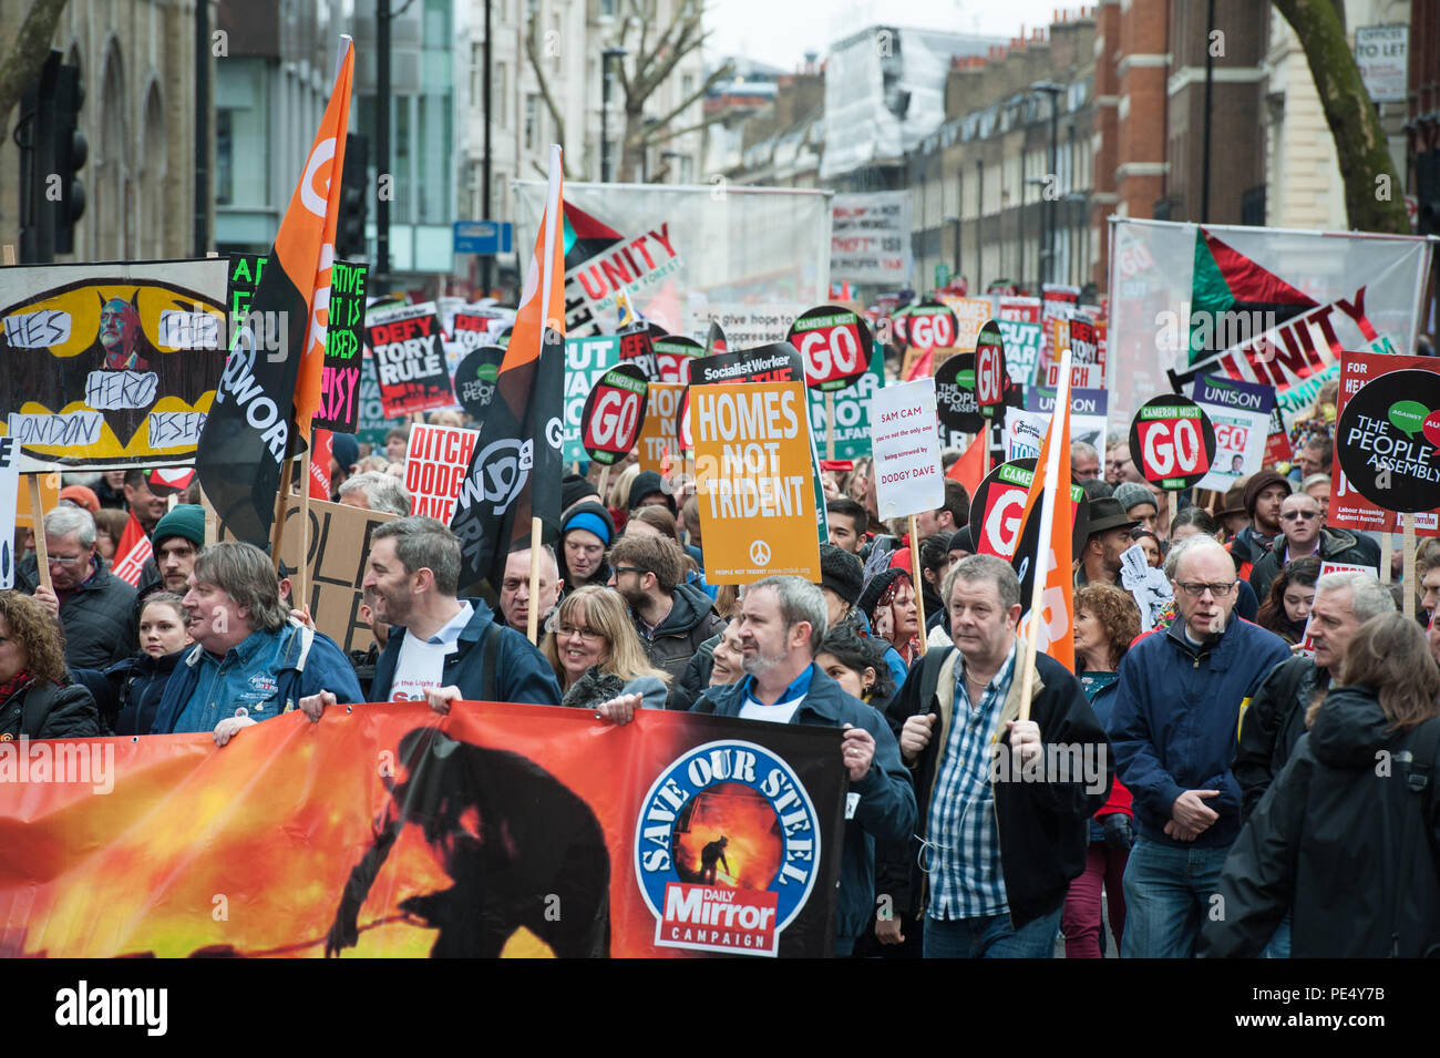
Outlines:
[[840,741],[389,702],[289,713],[223,749],[4,743],[0,954],[825,956]]

